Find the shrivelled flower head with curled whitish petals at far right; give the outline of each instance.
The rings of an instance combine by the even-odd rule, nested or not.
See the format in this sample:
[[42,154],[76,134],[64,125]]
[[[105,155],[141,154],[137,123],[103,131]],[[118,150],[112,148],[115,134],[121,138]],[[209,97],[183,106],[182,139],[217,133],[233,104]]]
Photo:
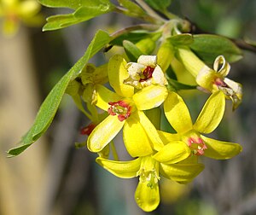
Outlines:
[[230,73],[230,64],[225,61],[224,56],[220,55],[213,64],[213,70],[205,66],[196,76],[196,82],[201,87],[214,92],[222,90],[233,102],[233,109],[241,103],[242,91],[241,84],[229,78],[225,78]]

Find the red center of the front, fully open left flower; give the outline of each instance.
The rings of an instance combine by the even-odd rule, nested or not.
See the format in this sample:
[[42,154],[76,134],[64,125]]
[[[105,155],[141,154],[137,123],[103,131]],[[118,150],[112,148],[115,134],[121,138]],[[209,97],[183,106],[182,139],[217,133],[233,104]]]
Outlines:
[[124,101],[108,102],[110,107],[108,113],[112,116],[117,115],[119,121],[124,121],[131,115],[131,106]]

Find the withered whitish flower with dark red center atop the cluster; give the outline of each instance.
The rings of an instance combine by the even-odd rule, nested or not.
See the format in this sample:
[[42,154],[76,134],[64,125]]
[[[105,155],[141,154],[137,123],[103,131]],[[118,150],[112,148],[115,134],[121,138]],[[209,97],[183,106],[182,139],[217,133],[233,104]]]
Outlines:
[[141,55],[137,59],[137,63],[127,63],[126,69],[129,78],[126,78],[124,83],[137,89],[142,89],[151,84],[168,84],[165,74],[160,66],[156,64],[156,55]]

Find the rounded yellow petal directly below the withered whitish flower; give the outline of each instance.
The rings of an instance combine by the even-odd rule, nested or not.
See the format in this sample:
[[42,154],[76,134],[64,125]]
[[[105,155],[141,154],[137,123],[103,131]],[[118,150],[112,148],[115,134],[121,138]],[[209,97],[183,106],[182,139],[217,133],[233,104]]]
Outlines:
[[132,96],[138,110],[148,110],[161,105],[166,99],[168,91],[165,86],[149,85]]

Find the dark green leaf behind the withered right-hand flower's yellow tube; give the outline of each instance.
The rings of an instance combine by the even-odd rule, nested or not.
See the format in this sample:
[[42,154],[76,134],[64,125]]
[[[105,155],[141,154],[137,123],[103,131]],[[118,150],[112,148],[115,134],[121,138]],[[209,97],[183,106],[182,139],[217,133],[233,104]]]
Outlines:
[[194,35],[194,43],[190,44],[189,47],[209,64],[218,55],[224,55],[224,58],[229,62],[238,61],[242,57],[241,50],[230,39],[212,34]]

